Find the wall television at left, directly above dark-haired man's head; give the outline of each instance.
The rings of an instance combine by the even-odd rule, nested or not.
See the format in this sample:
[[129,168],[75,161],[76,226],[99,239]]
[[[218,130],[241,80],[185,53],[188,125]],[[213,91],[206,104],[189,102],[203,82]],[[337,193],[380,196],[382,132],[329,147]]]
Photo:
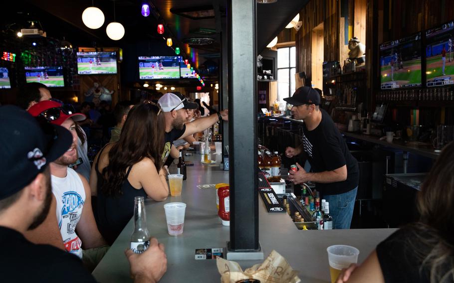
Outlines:
[[47,87],[64,87],[62,67],[25,67],[27,83],[41,83]]

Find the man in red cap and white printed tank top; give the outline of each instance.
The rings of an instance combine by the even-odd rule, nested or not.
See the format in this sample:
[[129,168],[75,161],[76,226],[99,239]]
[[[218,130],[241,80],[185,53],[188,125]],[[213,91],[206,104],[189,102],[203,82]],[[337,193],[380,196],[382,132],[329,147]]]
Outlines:
[[[99,233],[93,216],[90,186],[85,177],[68,167],[78,158],[74,121],[84,120],[85,115],[71,114],[62,104],[55,101],[39,102],[30,107],[28,112],[34,117],[62,126],[72,135],[73,142],[69,149],[50,163],[52,193],[57,201],[56,219],[65,250],[81,258],[85,266],[92,270],[107,252],[108,247]],[[39,241],[43,242],[45,243],[45,239]]]

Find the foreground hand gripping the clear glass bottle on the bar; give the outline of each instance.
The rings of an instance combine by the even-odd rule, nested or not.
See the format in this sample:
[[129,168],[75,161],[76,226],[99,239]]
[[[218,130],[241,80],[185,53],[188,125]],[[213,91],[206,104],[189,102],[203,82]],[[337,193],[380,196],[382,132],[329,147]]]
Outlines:
[[156,238],[150,239],[150,246],[143,254],[135,254],[130,249],[125,251],[131,267],[131,276],[135,283],[156,283],[167,271],[167,256],[164,245]]

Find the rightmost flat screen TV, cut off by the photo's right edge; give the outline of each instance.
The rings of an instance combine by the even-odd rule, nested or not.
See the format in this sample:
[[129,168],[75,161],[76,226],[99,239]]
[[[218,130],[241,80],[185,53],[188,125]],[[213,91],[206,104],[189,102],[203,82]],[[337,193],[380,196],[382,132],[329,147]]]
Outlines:
[[454,84],[454,21],[426,30],[426,85]]

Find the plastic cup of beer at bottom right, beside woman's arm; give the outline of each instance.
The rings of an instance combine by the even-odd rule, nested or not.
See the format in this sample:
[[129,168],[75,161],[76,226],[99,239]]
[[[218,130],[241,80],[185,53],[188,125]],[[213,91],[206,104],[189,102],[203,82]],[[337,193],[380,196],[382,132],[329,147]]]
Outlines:
[[359,250],[355,247],[345,245],[330,246],[328,252],[329,273],[331,283],[335,283],[342,269],[348,268],[350,264],[358,263]]

